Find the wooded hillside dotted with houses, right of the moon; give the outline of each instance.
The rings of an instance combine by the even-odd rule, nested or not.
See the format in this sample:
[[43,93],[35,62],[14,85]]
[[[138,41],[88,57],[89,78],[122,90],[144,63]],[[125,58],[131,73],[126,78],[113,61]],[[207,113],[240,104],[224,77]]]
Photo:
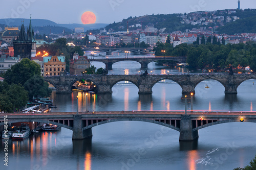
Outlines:
[[[237,16],[240,19],[227,22],[227,17],[232,18]],[[218,17],[221,17],[220,19]],[[206,20],[212,20],[207,22],[207,25],[203,25]],[[142,29],[145,26],[154,26],[158,30],[161,28],[166,28],[165,33],[172,33],[174,31],[184,32],[186,29],[192,30],[193,28],[199,29],[201,27],[219,27],[220,33],[235,34],[241,32],[255,33],[255,29],[251,26],[253,23],[255,25],[256,20],[256,10],[255,9],[245,9],[245,10],[217,10],[217,11],[198,11],[192,13],[184,14],[157,14],[157,15],[144,15],[139,17],[129,17],[123,19],[120,22],[114,22],[106,26],[106,31],[113,29],[114,31],[126,31],[127,21],[129,23],[129,30],[137,30],[140,28],[131,27],[136,24],[142,25]],[[201,22],[199,24],[193,25],[192,22]],[[182,23],[183,22],[183,23]],[[241,27],[241,29],[237,29]],[[232,29],[229,29],[231,27]],[[234,29],[236,28],[236,29]],[[92,31],[92,30],[89,30]],[[88,32],[89,32],[88,31]],[[99,30],[95,30],[94,33],[99,33]]]

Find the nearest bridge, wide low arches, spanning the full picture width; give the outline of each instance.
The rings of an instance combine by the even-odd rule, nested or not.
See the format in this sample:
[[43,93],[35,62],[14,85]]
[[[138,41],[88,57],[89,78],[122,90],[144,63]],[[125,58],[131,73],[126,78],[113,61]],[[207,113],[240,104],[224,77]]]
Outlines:
[[[39,122],[57,125],[73,131],[72,139],[92,136],[92,128],[118,121],[140,121],[162,125],[180,132],[179,140],[199,137],[198,130],[209,126],[241,122],[256,123],[255,112],[167,112],[167,111],[114,111],[114,112],[58,112],[44,114],[1,113],[0,126],[18,122]],[[4,116],[7,117],[4,119]],[[243,124],[241,122],[241,124]]]

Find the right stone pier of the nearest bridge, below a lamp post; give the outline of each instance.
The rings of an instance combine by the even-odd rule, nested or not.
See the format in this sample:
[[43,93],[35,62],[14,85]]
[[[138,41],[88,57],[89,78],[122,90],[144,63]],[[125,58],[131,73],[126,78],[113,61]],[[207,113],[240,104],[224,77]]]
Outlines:
[[190,115],[181,115],[180,141],[191,141],[198,139],[198,130],[193,131]]

